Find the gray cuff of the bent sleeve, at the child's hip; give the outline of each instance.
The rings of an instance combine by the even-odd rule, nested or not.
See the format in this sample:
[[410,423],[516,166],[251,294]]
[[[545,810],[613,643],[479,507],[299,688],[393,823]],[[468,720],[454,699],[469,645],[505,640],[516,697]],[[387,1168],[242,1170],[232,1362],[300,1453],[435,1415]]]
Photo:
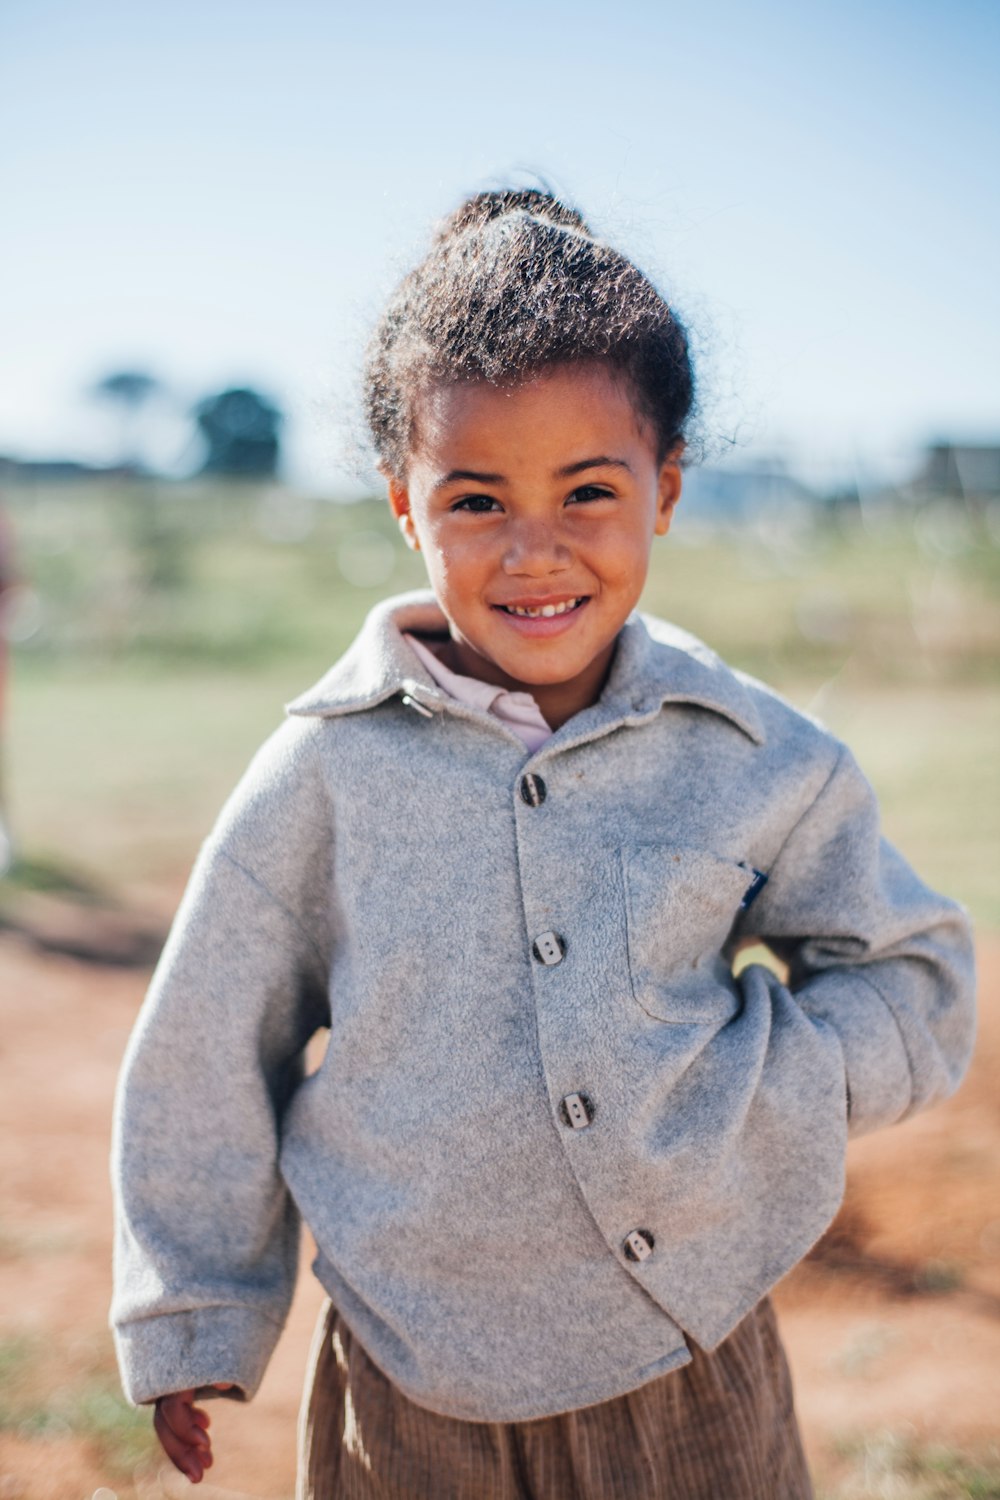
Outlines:
[[850,1136],[892,1125],[913,1100],[910,1059],[895,1017],[876,986],[853,969],[831,969],[795,996],[825,1022],[844,1052]]

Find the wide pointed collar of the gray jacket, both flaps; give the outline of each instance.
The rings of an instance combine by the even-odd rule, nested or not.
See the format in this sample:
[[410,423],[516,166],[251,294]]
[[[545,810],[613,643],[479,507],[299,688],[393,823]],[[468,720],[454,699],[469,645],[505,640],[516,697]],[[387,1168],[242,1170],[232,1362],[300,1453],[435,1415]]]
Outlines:
[[[397,694],[432,714],[454,705],[403,640],[406,630],[441,633],[445,628],[444,614],[429,590],[387,598],[369,614],[340,660],[292,699],[286,711],[333,718],[375,708]],[[559,730],[561,746],[615,724],[639,724],[658,714],[664,704],[696,704],[729,718],[757,744],[765,741],[753,696],[709,646],[676,626],[636,614],[619,636],[600,704]]]

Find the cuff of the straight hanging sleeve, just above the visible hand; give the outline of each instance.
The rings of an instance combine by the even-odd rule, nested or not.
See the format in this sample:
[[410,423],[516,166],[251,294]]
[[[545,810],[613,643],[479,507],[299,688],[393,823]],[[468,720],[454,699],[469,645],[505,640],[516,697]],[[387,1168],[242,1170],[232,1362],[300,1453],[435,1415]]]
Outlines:
[[163,1312],[115,1328],[121,1386],[133,1406],[225,1380],[249,1401],[264,1377],[280,1326],[241,1306]]

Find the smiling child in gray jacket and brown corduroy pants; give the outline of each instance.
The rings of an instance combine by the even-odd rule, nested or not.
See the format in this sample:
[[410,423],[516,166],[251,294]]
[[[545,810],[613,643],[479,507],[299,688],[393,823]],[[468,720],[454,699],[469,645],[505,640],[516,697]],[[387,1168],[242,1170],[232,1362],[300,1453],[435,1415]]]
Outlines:
[[[253,1395],[301,1216],[300,1494],[799,1500],[768,1292],[849,1131],[957,1086],[964,915],[844,746],[634,614],[693,381],[630,261],[472,198],[366,378],[432,592],[289,705],[198,858],[117,1104],[126,1390],[198,1482],[193,1402]],[[733,976],[750,939],[787,982]]]

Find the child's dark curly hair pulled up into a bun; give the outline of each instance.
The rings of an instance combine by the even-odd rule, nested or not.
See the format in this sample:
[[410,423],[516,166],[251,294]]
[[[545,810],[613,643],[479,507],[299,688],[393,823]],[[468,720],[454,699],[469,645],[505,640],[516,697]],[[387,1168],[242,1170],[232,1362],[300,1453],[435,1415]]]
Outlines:
[[405,474],[414,406],[432,384],[516,384],[595,362],[631,388],[660,460],[684,444],[688,336],[652,282],[552,194],[475,194],[438,226],[370,339],[364,416],[379,464]]

